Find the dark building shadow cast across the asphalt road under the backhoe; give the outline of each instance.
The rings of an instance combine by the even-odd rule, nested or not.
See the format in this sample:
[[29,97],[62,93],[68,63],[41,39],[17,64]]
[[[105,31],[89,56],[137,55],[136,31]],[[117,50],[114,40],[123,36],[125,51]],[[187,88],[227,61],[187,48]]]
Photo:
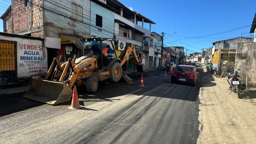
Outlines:
[[[111,83],[108,81],[99,82],[98,90],[95,93],[88,93],[85,86],[78,86],[77,93],[79,95],[80,105],[84,106],[85,103],[96,103],[96,102],[113,102],[111,99],[117,96],[133,94],[142,96],[145,93],[147,96],[162,97],[170,99],[196,101],[198,100],[199,89],[202,82],[202,70],[200,77],[197,82],[197,86],[191,87],[187,85],[171,84],[171,78],[164,77],[164,70],[160,71],[148,71],[145,73],[131,74],[134,79],[140,79],[143,75],[145,87],[139,87],[139,80],[134,81],[134,85],[126,85],[124,80],[118,83]],[[45,103],[30,100],[22,97],[23,93],[16,93],[12,95],[1,95],[0,96],[0,116],[9,115],[15,112],[23,111],[29,108],[34,108]],[[47,104],[45,104],[47,105]],[[71,105],[71,100],[68,102],[61,103],[57,106]]]

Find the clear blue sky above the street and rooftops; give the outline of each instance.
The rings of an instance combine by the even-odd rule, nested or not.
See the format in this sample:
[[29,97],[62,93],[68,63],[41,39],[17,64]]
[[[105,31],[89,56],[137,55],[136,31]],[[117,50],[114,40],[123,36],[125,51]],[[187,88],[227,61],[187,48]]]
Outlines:
[[[164,31],[164,45],[184,46],[188,53],[200,52],[212,47],[212,42],[225,37],[250,36],[250,26],[238,30],[202,38],[189,38],[215,34],[234,28],[251,25],[256,12],[255,0],[119,0],[133,11],[138,11],[156,22],[152,31]],[[0,0],[0,15],[11,4],[11,0]],[[7,5],[5,5],[7,4]],[[145,27],[149,27],[145,24]],[[0,21],[3,31],[3,21]],[[173,32],[175,34],[171,35]],[[187,36],[187,37],[184,37]]]

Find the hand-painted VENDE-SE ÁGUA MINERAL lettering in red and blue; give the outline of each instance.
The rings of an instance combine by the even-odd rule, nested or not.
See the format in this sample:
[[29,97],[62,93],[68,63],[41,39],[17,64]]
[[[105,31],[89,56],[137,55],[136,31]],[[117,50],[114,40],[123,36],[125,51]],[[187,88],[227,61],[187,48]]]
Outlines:
[[30,78],[47,74],[46,49],[37,44],[21,43],[17,46],[18,78]]

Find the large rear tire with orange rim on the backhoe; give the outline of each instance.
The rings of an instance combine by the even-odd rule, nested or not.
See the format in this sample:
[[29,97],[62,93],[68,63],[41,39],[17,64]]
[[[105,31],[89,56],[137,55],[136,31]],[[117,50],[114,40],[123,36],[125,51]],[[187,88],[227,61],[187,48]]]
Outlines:
[[110,68],[110,81],[111,82],[118,82],[122,77],[122,67],[119,62],[114,62]]

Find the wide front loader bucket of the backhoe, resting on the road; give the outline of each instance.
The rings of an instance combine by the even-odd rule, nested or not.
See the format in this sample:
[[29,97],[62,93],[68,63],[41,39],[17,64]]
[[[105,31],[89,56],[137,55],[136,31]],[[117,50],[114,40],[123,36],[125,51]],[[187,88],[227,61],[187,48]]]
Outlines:
[[65,83],[32,79],[32,85],[23,97],[57,105],[71,99],[72,89]]

